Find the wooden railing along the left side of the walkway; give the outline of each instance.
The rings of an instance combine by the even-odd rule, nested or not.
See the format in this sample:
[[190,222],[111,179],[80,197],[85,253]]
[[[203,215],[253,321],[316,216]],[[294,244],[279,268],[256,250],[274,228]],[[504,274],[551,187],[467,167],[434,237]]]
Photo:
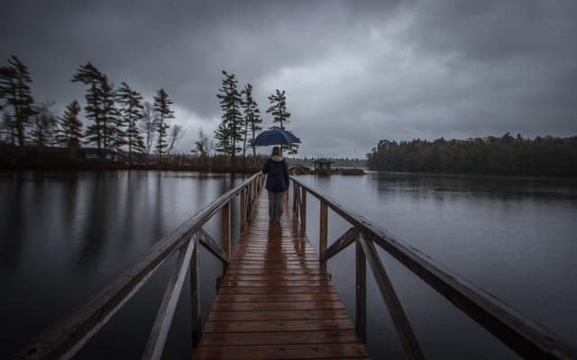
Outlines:
[[[231,204],[235,196],[240,196],[240,226],[251,219],[252,203],[262,186],[263,175],[255,174],[234,189],[222,194],[197,214],[190,217],[179,228],[165,238],[161,238],[144,254],[135,265],[125,270],[97,293],[69,318],[47,330],[31,344],[23,348],[18,359],[69,359],[74,356],[98,330],[102,329],[116,311],[138,292],[151,275],[169,258],[178,254],[177,265],[166,286],[160,309],[142,359],[160,359],[169,333],[170,324],[176,311],[179,296],[188,269],[190,270],[190,297],[193,346],[201,334],[200,314],[200,269],[198,268],[198,247],[206,247],[227,266],[231,257]],[[222,214],[222,246],[203,229],[206,222],[218,212]],[[223,270],[224,271],[224,270]]]

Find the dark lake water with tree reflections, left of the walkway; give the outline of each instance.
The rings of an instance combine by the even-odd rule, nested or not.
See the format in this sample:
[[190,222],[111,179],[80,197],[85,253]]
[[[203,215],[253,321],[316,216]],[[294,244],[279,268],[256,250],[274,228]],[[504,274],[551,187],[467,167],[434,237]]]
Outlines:
[[[28,338],[86,302],[152,243],[238,181],[227,175],[192,172],[0,172],[0,316],[4,325],[0,357],[9,356]],[[238,210],[233,208],[233,214],[237,219]],[[219,231],[218,221],[217,215],[206,229]],[[215,234],[215,238],[220,236]],[[218,267],[212,257],[206,256],[206,261],[203,297],[214,296]],[[145,341],[146,321],[157,311],[169,271],[169,266],[161,269],[160,277],[142,289],[144,295],[118,314],[117,319],[124,321],[113,321],[106,327],[107,334],[94,340],[104,341],[90,347],[98,349],[95,358],[114,357],[114,347],[105,342],[110,339],[134,334],[135,341],[142,341],[138,337],[143,333]],[[188,311],[186,306],[179,309]],[[207,310],[206,306],[203,311]],[[176,317],[187,319],[184,313]],[[175,324],[187,327],[186,321]],[[138,335],[134,327],[142,328]],[[187,329],[175,332],[188,334]],[[169,340],[174,346],[167,350],[169,354],[190,356],[189,339],[176,339]],[[139,357],[141,351],[131,346],[123,354]]]

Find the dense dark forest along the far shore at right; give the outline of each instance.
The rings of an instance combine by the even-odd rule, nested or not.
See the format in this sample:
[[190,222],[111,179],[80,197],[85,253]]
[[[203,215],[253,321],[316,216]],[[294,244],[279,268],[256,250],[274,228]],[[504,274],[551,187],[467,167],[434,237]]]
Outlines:
[[380,140],[367,154],[373,170],[456,174],[577,175],[577,137]]

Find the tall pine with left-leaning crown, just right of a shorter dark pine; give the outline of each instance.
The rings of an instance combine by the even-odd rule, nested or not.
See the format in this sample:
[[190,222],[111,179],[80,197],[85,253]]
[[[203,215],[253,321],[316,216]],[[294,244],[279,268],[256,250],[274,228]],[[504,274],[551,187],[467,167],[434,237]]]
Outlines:
[[104,75],[90,62],[78,67],[77,73],[72,77],[73,83],[82,83],[88,86],[86,99],[87,105],[84,110],[87,112],[87,118],[93,121],[87,126],[86,141],[87,143],[96,142],[100,151],[104,143],[104,127],[101,109],[101,90],[102,77]]

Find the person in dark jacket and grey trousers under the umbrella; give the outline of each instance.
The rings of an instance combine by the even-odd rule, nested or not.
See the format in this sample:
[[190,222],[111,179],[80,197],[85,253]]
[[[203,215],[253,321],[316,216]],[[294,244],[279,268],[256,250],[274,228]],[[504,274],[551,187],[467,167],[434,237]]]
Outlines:
[[272,154],[262,166],[262,173],[267,174],[265,187],[269,191],[269,220],[279,223],[283,194],[289,189],[289,163],[280,156],[279,147],[272,148]]

